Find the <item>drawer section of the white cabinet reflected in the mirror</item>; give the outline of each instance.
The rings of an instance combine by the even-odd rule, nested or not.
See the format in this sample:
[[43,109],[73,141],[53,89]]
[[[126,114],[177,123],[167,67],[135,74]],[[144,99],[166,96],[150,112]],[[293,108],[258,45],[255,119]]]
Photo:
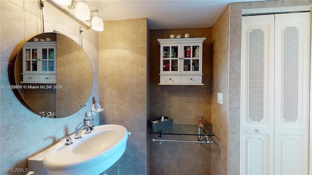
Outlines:
[[56,75],[23,74],[24,82],[56,83]]

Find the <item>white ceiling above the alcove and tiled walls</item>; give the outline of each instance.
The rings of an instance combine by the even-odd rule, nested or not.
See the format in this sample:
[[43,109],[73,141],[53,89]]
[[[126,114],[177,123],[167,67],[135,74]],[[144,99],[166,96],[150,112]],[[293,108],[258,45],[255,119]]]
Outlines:
[[151,30],[212,27],[231,2],[255,0],[87,0],[104,21],[147,18]]

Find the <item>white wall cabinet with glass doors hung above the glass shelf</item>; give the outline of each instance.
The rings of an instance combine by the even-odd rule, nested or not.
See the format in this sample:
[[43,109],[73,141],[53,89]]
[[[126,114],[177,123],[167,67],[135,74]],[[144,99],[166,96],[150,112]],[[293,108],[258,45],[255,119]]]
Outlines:
[[203,85],[202,48],[206,38],[157,39],[159,85]]

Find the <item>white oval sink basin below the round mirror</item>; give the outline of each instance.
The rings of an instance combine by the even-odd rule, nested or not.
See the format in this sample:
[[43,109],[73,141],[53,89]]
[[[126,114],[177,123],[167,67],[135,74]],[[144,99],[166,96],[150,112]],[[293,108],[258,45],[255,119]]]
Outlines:
[[125,152],[128,131],[121,125],[99,125],[91,134],[81,133],[65,146],[65,139],[51,147],[43,158],[48,175],[98,175],[111,167]]

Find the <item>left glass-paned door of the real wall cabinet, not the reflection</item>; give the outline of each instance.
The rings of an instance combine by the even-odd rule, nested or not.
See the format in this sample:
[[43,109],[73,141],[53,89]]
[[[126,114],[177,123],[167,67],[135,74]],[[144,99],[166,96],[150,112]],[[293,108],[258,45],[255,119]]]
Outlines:
[[178,46],[163,46],[162,47],[162,72],[165,74],[175,74],[179,72],[179,58],[178,58],[178,52],[179,47]]

